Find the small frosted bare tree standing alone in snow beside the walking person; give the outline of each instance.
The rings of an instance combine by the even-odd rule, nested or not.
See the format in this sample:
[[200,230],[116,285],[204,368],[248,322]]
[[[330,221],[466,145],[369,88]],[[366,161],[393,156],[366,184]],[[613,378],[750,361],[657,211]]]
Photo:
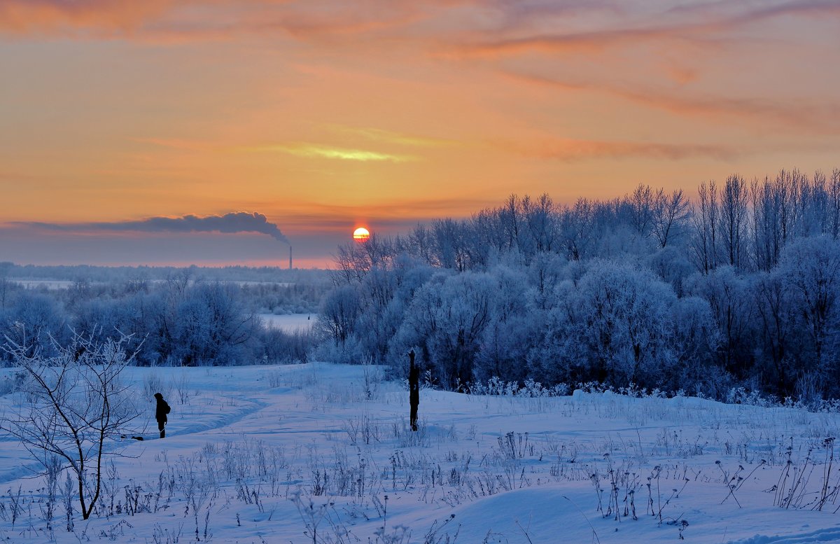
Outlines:
[[76,477],[81,516],[87,520],[99,499],[102,458],[139,415],[120,374],[134,359],[123,344],[129,337],[95,343],[94,335],[73,333],[55,356],[29,353],[7,338],[6,351],[24,369],[21,403],[0,429],[16,437],[45,469],[58,456]]

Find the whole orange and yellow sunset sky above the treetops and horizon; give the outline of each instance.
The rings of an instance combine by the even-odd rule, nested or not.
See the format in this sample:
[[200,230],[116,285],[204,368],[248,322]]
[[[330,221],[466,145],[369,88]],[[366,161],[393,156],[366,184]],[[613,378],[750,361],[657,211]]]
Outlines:
[[830,172],[837,66],[837,0],[0,0],[0,260],[323,267],[511,194]]

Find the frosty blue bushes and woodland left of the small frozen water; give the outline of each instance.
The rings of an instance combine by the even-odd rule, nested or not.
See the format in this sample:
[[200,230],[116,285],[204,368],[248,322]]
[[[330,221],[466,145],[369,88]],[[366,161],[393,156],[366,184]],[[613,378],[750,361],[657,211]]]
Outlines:
[[[328,285],[203,280],[197,269],[172,269],[165,280],[78,279],[66,289],[25,288],[0,274],[0,345],[49,358],[72,337],[143,343],[136,364],[205,365],[307,360],[314,337],[264,327],[260,312],[312,311]],[[7,267],[8,271],[8,267]],[[91,336],[92,335],[92,336]],[[0,350],[0,362],[8,353]]]

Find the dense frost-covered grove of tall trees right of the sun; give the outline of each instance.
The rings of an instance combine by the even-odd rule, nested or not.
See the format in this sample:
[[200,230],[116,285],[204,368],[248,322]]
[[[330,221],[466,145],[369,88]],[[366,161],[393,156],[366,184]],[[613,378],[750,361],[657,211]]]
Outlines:
[[597,381],[722,397],[840,395],[840,170],[640,185],[560,206],[510,196],[467,219],[339,248],[323,354],[448,389]]

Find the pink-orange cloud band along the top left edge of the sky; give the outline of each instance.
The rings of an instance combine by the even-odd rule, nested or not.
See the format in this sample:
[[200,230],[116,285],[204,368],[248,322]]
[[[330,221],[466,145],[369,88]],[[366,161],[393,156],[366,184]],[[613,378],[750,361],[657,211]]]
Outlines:
[[[445,1],[445,0],[444,0]],[[0,32],[72,38],[183,41],[238,34],[335,39],[375,33],[423,18],[424,3],[291,0],[2,0]]]

